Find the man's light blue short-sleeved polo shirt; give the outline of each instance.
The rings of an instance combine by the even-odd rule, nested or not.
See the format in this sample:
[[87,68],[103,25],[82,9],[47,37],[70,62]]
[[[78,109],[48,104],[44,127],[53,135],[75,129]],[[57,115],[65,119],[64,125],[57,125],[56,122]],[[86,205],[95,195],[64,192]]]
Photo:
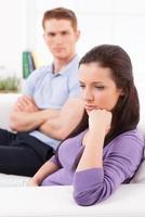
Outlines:
[[[34,71],[26,80],[24,93],[31,95],[40,110],[62,108],[69,98],[80,95],[78,64],[79,58],[76,55],[56,74],[53,74],[53,64]],[[54,150],[61,142],[39,130],[31,131],[29,135],[51,145]]]

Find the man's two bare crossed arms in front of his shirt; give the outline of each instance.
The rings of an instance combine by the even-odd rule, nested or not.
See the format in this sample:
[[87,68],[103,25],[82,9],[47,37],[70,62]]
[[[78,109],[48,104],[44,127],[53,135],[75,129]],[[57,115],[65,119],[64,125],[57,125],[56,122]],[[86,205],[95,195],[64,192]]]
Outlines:
[[83,103],[80,99],[68,99],[62,110],[39,110],[31,97],[23,95],[13,108],[10,127],[15,131],[38,129],[62,140],[78,125],[82,113]]

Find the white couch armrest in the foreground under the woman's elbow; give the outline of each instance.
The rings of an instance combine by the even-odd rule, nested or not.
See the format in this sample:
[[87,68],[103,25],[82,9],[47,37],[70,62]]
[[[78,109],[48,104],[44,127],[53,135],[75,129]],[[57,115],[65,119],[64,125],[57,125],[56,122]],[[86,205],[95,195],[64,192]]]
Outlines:
[[75,203],[71,187],[0,188],[4,217],[144,217],[145,184],[122,184],[106,201],[89,207]]

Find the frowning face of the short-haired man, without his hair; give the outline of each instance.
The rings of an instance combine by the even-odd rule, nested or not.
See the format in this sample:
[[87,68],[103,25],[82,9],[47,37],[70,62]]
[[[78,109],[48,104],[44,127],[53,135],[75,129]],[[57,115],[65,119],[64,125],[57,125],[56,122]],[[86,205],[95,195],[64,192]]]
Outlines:
[[44,40],[54,59],[67,60],[75,54],[79,31],[68,20],[48,20],[44,23]]

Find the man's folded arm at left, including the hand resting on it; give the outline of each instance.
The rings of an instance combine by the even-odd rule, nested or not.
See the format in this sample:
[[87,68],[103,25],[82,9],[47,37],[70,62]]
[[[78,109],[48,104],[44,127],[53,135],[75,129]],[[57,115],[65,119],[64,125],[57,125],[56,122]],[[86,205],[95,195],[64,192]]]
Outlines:
[[30,131],[58,114],[58,110],[39,110],[32,98],[23,95],[12,111],[10,127],[15,131]]

